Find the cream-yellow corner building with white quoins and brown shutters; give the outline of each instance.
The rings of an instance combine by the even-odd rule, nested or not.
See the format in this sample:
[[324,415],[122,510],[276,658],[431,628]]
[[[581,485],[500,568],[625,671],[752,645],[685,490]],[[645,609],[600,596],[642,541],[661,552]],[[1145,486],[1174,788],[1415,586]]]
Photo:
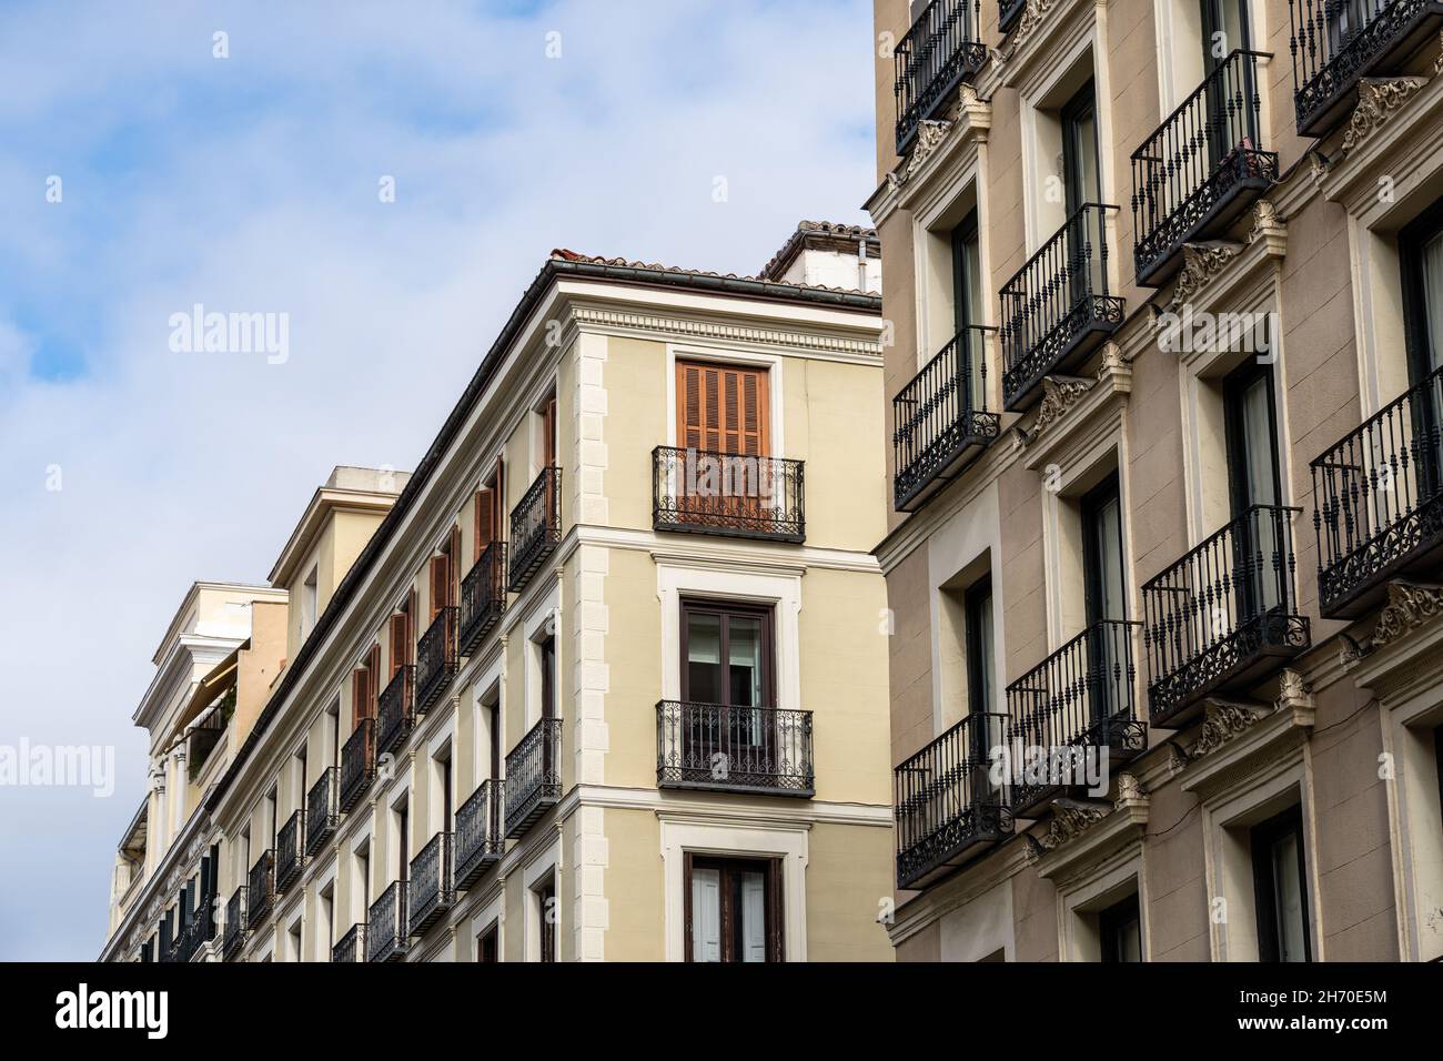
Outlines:
[[338,469],[192,960],[890,960],[877,261],[554,251],[420,465]]

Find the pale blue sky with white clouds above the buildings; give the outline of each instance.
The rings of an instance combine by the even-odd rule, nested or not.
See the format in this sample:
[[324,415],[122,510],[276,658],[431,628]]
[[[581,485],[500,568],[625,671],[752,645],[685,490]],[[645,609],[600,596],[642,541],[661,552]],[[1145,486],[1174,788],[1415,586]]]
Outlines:
[[[189,583],[410,468],[553,247],[755,273],[864,221],[872,62],[866,0],[0,4],[0,745],[117,772],[0,787],[0,959],[98,953]],[[172,352],[193,303],[289,359]]]

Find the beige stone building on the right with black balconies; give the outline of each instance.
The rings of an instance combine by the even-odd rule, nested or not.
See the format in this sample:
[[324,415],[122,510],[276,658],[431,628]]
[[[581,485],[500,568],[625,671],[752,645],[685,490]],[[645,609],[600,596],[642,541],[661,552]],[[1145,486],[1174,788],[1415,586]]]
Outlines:
[[899,959],[1443,956],[1440,29],[877,0]]

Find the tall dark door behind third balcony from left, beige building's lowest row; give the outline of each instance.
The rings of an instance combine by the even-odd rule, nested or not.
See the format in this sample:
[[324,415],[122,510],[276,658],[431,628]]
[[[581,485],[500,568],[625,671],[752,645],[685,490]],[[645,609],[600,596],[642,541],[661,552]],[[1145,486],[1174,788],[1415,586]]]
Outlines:
[[1224,381],[1222,403],[1234,528],[1235,628],[1280,608],[1287,598],[1271,367],[1248,361],[1234,371]]

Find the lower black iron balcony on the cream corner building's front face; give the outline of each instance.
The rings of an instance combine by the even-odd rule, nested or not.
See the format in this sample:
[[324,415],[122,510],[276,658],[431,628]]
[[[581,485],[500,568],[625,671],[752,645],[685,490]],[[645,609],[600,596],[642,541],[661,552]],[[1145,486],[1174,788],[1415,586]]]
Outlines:
[[657,787],[814,795],[811,712],[662,700]]

